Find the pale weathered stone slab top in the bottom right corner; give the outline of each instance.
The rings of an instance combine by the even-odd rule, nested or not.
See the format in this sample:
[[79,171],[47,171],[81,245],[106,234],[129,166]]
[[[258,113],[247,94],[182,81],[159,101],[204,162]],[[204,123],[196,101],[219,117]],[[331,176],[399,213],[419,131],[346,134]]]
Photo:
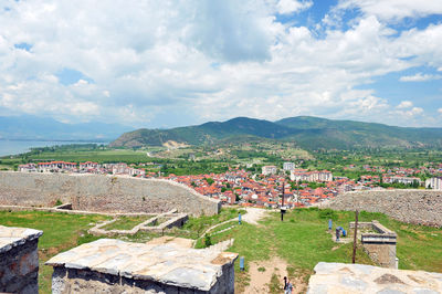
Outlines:
[[326,262],[319,262],[314,270],[308,294],[442,293],[442,273]]

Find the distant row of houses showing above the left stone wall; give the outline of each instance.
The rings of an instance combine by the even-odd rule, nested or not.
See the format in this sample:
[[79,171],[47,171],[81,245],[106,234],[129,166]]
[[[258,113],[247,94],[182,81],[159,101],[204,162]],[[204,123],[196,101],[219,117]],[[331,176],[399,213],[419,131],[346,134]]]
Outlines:
[[86,161],[77,165],[76,162],[49,161],[38,164],[20,165],[18,170],[21,172],[78,172],[78,174],[112,174],[128,176],[145,176],[144,169],[127,166],[127,164],[103,164]]

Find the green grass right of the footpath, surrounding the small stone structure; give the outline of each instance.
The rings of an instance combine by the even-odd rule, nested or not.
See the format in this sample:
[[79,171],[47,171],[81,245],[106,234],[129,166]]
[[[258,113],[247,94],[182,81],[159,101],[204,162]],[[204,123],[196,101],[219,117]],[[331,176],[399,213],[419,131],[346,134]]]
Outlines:
[[[320,218],[323,214],[323,218]],[[354,221],[354,212],[335,212],[334,227],[348,230]],[[397,255],[399,267],[442,272],[442,230],[422,225],[404,224],[381,213],[361,212],[360,221],[379,220],[387,228],[398,233]],[[337,245],[327,232],[328,219],[317,209],[298,209],[288,212],[284,222],[278,213],[261,221],[262,227],[242,224],[225,233],[212,235],[212,242],[234,238],[229,250],[245,258],[246,269],[252,261],[269,260],[278,255],[287,261],[292,274],[307,281],[313,267],[320,261],[351,263],[352,243]],[[373,264],[359,246],[357,263]],[[235,264],[235,271],[240,271]],[[293,276],[292,276],[293,277]],[[235,276],[236,283],[248,283],[242,274]],[[242,285],[244,286],[244,285]]]

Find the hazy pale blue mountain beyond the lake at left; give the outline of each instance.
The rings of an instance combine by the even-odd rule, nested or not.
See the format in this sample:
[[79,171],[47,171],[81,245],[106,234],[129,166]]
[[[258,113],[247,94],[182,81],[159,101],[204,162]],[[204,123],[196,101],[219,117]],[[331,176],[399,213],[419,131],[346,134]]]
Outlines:
[[64,124],[36,116],[0,116],[0,139],[104,140],[117,138],[130,127],[117,124]]

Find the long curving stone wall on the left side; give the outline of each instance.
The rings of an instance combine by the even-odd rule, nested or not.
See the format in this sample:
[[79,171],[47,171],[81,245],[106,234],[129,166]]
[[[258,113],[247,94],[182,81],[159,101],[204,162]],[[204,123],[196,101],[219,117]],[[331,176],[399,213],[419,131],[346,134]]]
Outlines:
[[220,201],[168,180],[101,175],[0,172],[0,204],[52,207],[104,212],[219,213]]

